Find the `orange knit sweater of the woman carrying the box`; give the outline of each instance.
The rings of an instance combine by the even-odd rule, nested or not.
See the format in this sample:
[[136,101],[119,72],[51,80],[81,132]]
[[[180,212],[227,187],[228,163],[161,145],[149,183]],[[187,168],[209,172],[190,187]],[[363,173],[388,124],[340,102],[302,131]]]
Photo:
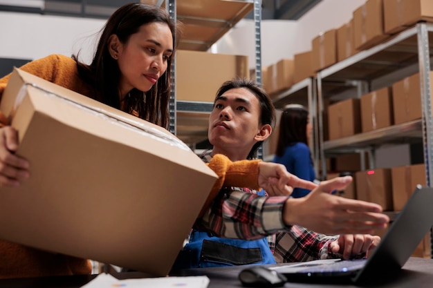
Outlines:
[[[49,55],[32,61],[20,69],[82,95],[92,97],[91,87],[78,77],[77,66],[70,57]],[[10,75],[7,75],[0,79],[0,96],[3,94],[9,78]],[[258,189],[259,161],[231,162],[228,157],[223,155],[214,156],[208,165],[219,175],[219,179],[216,180],[200,215],[203,215],[203,212],[208,209],[210,203],[223,186],[248,186],[252,189]],[[89,260],[40,251],[0,240],[0,278],[89,273],[91,273],[91,262]]]

